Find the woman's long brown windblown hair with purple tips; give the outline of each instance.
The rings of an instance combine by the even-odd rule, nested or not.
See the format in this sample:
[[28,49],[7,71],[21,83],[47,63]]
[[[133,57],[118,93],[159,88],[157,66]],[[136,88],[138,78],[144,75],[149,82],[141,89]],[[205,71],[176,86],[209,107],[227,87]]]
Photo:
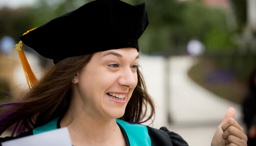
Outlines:
[[[70,102],[72,78],[92,56],[93,54],[80,55],[58,62],[47,68],[34,87],[22,92],[15,102],[1,104],[0,108],[5,110],[0,115],[0,135],[11,129],[11,136],[16,136],[63,116]],[[138,69],[137,74],[138,84],[127,104],[125,114],[119,118],[131,123],[146,122],[155,114],[153,100],[147,93],[143,76]],[[148,116],[147,105],[151,109]]]

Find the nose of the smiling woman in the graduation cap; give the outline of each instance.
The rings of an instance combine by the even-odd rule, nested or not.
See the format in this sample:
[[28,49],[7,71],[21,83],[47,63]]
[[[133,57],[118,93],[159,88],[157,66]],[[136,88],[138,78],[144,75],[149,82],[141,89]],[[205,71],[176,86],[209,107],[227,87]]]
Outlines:
[[123,69],[120,77],[118,78],[118,84],[133,88],[137,85],[138,76],[137,72],[132,72],[131,68],[127,67]]

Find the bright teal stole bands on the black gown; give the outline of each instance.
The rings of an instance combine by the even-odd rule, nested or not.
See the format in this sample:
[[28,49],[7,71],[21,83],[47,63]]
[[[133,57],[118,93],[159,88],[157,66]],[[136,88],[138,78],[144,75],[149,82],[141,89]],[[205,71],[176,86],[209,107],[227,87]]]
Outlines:
[[[33,134],[57,129],[57,121],[59,118],[51,120],[49,123],[34,128]],[[141,124],[131,124],[123,120],[116,119],[116,122],[124,128],[130,142],[130,146],[151,146],[151,139],[148,135],[147,127]]]

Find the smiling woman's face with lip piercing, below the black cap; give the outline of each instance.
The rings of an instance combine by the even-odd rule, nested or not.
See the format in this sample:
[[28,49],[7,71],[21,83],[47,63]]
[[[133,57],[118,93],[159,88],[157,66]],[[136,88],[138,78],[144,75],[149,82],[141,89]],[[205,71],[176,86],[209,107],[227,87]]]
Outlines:
[[[94,53],[77,74],[76,96],[92,117],[120,118],[137,85],[139,53],[135,48]],[[80,103],[81,104],[81,103]]]

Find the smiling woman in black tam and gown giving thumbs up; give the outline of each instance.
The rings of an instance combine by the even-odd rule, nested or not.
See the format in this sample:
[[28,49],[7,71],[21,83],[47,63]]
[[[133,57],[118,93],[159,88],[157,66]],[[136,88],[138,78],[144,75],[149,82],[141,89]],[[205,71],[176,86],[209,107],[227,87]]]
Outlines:
[[[18,136],[0,142],[68,127],[74,146],[187,146],[165,127],[132,124],[145,122],[147,105],[146,121],[154,115],[138,70],[138,39],[148,23],[144,3],[96,0],[20,37],[16,49],[33,88],[15,103],[1,105],[10,107],[0,115],[0,134],[11,127]],[[56,64],[39,81],[28,67],[23,42]],[[233,116],[230,109],[212,146],[246,144]]]

